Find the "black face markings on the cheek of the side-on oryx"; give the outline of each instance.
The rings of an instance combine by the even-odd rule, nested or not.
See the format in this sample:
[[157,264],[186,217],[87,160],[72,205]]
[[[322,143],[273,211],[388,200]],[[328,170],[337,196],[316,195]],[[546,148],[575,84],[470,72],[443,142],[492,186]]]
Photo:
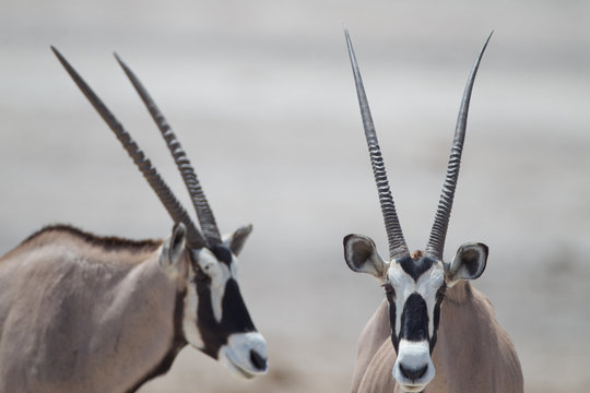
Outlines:
[[216,321],[213,312],[211,279],[198,279],[196,285],[199,296],[197,323],[204,343],[202,350],[216,359],[220,348],[227,344],[229,335],[255,332],[256,327],[235,279],[229,278],[225,284],[221,322]]

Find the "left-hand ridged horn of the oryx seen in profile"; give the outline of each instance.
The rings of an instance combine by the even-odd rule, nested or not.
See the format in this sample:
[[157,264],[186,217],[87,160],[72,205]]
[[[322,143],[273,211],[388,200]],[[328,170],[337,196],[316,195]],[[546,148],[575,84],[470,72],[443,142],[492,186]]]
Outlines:
[[187,242],[191,248],[201,248],[206,246],[206,240],[201,233],[197,229],[189,215],[178,202],[174,193],[168,186],[164,182],[156,168],[152,165],[150,159],[145,157],[145,154],[141,151],[138,144],[133,141],[129,132],[125,130],[122,124],[110,112],[105,104],[98,98],[98,96],[92,91],[92,88],[84,82],[84,80],[78,74],[78,72],[70,66],[68,60],[61,53],[51,46],[51,50],[56,53],[58,60],[61,62],[68,74],[72,78],[78,87],[82,91],[84,96],[92,104],[94,109],[101,115],[103,120],[115,132],[117,139],[121,142],[122,146],[133,159],[133,163],[138,166],[143,177],[152,189],[155,191],[157,198],[164,204],[164,207],[168,211],[168,214],[175,223],[182,223],[187,227]]

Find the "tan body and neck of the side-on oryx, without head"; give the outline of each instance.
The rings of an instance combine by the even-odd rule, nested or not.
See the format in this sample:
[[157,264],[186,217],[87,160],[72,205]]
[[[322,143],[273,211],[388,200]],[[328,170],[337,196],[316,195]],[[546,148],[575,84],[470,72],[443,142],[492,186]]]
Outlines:
[[45,231],[0,259],[0,392],[128,392],[174,359],[162,242],[98,240]]

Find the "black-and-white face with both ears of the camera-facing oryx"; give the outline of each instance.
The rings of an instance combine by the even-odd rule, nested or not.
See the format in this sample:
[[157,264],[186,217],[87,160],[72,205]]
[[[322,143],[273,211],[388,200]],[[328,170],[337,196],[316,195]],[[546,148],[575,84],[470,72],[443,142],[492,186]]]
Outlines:
[[445,293],[459,281],[483,273],[487,247],[465,243],[451,263],[422,254],[385,262],[370,238],[349,235],[344,238],[344,255],[353,271],[371,274],[385,288],[391,342],[398,355],[393,378],[404,392],[422,392],[435,376],[430,355]]

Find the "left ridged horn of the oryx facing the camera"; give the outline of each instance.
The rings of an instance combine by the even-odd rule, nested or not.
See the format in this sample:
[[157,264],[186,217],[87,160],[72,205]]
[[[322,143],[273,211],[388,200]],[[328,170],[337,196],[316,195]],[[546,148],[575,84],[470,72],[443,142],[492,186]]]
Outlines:
[[381,157],[381,150],[379,148],[379,142],[377,140],[377,133],[375,132],[375,126],[370,116],[365,87],[363,86],[363,79],[361,78],[361,71],[358,71],[356,56],[354,53],[347,29],[344,29],[344,35],[346,37],[346,45],[349,46],[349,56],[351,58],[351,64],[354,73],[356,95],[358,96],[358,105],[361,106],[361,116],[363,117],[363,127],[365,128],[365,138],[367,139],[370,165],[373,166],[373,174],[375,175],[375,182],[377,183],[377,191],[379,193],[379,203],[381,204],[381,213],[384,214],[387,239],[389,242],[389,257],[391,259],[406,257],[410,255],[410,252],[408,251],[408,246],[405,245],[400,226],[400,221],[398,219],[398,214],[396,213],[396,204],[393,203],[391,190],[389,189],[389,181],[387,180],[387,172],[385,169],[384,158]]

